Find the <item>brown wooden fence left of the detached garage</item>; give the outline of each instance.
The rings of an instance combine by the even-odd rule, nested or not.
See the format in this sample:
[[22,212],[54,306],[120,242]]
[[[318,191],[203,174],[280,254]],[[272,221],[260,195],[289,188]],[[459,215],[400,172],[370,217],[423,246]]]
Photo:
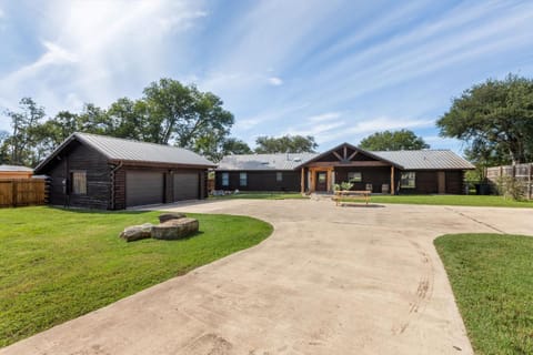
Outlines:
[[44,179],[0,180],[0,207],[17,207],[47,203]]

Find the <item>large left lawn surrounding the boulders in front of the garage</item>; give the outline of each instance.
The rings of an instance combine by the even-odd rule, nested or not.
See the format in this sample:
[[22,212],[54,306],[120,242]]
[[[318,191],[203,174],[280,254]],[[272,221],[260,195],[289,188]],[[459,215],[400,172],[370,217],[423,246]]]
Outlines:
[[158,212],[0,210],[0,346],[100,308],[151,285],[250,247],[265,222],[188,214],[200,232],[182,241],[118,237]]

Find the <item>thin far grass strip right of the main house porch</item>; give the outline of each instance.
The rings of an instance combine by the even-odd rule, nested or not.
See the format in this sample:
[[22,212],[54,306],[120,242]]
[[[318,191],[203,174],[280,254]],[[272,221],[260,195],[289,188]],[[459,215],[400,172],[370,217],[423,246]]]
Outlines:
[[533,209],[533,201],[514,201],[492,195],[372,195],[371,202]]

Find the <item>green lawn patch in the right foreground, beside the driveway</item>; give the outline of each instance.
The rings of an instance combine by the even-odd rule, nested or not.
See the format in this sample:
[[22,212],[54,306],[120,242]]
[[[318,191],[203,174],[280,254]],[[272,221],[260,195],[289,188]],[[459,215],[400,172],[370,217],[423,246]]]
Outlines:
[[476,354],[533,354],[533,236],[435,240]]

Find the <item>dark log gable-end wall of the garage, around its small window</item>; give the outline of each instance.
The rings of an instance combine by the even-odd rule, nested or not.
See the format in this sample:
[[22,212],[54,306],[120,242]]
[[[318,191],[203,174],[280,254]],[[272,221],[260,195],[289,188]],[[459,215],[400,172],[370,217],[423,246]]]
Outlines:
[[[72,193],[72,171],[86,172],[87,194]],[[103,210],[110,206],[111,179],[108,161],[89,146],[73,141],[42,173],[51,178],[49,201],[52,205]]]

